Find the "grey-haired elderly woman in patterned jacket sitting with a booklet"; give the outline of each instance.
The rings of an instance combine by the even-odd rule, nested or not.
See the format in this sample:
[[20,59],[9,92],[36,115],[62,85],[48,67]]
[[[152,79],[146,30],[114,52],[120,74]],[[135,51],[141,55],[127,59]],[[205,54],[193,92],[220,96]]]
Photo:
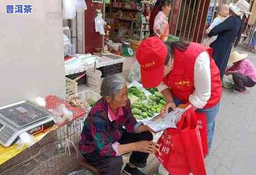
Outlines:
[[122,157],[132,152],[125,174],[144,174],[138,168],[146,166],[149,153],[157,151],[151,129],[137,123],[127,98],[122,76],[108,76],[101,86],[101,99],[91,109],[81,132],[80,152],[101,174],[120,174]]

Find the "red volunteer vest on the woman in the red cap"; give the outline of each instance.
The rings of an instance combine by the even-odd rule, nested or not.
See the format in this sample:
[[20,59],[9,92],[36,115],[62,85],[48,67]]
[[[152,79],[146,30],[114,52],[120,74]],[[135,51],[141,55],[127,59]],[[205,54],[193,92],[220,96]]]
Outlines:
[[221,100],[222,84],[218,67],[212,59],[212,49],[201,44],[191,43],[185,52],[175,49],[173,69],[163,82],[172,89],[172,95],[187,103],[194,92],[194,63],[199,54],[208,51],[211,58],[211,97],[204,108],[211,108]]

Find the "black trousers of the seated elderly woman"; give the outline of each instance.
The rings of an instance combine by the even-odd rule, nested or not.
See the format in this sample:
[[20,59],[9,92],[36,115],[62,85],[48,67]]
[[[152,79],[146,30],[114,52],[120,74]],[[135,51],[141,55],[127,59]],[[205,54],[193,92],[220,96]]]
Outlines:
[[[130,144],[132,142],[142,140],[153,140],[151,132],[142,132],[140,134],[123,132],[121,139],[118,141],[119,144]],[[130,163],[136,167],[143,168],[146,166],[147,157],[149,153],[133,151],[130,156]],[[117,157],[103,157],[100,156],[98,151],[94,151],[85,156],[90,165],[95,166],[99,169],[103,175],[120,175],[122,169],[122,156]]]

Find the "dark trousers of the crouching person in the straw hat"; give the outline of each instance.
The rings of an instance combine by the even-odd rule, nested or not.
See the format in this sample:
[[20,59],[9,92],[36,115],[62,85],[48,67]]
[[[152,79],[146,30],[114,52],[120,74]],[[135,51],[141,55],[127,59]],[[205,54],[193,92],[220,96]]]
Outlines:
[[232,73],[235,89],[244,92],[246,87],[253,87],[256,83],[248,76]]

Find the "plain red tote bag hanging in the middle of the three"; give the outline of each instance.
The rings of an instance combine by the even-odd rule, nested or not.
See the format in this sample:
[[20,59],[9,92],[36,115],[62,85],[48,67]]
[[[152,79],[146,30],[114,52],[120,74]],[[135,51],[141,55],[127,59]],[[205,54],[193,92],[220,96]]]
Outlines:
[[193,109],[188,109],[186,113],[187,127],[181,131],[181,138],[187,160],[193,175],[206,175],[202,139],[197,126],[197,117]]

